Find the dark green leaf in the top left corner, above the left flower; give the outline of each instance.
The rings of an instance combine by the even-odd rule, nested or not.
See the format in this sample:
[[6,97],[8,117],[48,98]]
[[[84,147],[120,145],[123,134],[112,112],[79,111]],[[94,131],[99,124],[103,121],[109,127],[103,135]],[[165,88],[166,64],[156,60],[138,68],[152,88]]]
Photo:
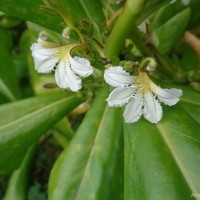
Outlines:
[[[0,11],[17,18],[34,22],[50,30],[62,31],[62,19],[59,16],[51,16],[40,10],[42,0],[0,0]],[[14,8],[14,9],[13,9]]]

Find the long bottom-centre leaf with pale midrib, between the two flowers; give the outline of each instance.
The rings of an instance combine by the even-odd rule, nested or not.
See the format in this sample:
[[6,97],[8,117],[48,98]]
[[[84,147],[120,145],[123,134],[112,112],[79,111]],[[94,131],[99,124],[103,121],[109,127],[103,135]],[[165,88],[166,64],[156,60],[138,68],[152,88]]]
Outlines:
[[108,88],[102,88],[69,147],[55,163],[49,200],[123,199],[121,113],[108,108],[107,96]]

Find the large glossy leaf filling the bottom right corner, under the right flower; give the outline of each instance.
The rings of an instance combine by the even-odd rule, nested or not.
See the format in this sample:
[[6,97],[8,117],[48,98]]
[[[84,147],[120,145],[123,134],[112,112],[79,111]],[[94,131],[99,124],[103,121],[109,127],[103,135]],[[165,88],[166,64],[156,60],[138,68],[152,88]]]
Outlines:
[[182,101],[164,107],[157,125],[143,119],[124,124],[126,200],[188,200],[200,193],[200,125],[191,117],[199,98],[184,89]]

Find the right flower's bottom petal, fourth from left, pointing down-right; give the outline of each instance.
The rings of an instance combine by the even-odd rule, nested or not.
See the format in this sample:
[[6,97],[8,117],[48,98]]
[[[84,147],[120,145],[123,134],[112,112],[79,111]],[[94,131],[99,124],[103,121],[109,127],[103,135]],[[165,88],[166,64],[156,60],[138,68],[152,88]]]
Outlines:
[[143,114],[151,123],[157,123],[162,118],[162,107],[151,92],[144,94]]

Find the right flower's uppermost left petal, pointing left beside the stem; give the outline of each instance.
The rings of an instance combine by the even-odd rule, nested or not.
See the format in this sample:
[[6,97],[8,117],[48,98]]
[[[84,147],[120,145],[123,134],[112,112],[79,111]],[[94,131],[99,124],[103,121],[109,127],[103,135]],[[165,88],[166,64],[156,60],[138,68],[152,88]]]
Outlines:
[[133,76],[131,76],[120,66],[106,69],[104,73],[104,79],[113,87],[128,86],[133,83]]

